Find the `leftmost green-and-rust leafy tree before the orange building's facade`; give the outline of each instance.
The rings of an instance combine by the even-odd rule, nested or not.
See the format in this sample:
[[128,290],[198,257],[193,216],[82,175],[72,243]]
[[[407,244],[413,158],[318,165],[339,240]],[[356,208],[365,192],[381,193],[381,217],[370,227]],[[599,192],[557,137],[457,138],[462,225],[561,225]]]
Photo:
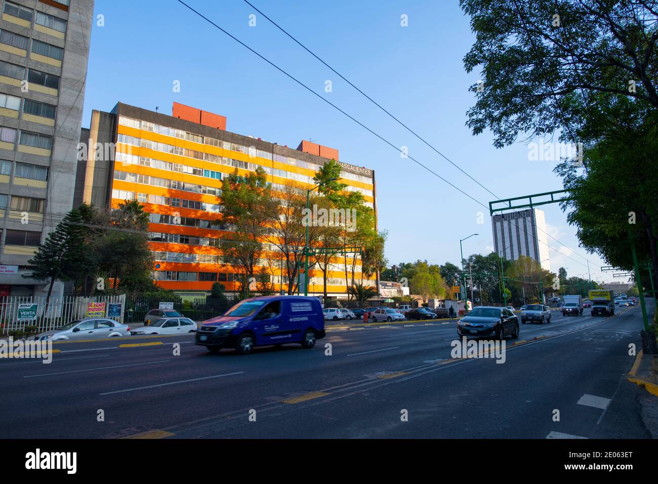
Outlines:
[[247,176],[238,175],[236,169],[224,177],[220,202],[224,211],[216,225],[230,224],[234,231],[231,243],[224,248],[224,262],[237,267],[239,285],[247,297],[247,281],[253,277],[254,266],[263,251],[261,241],[278,218],[278,203],[261,167]]

